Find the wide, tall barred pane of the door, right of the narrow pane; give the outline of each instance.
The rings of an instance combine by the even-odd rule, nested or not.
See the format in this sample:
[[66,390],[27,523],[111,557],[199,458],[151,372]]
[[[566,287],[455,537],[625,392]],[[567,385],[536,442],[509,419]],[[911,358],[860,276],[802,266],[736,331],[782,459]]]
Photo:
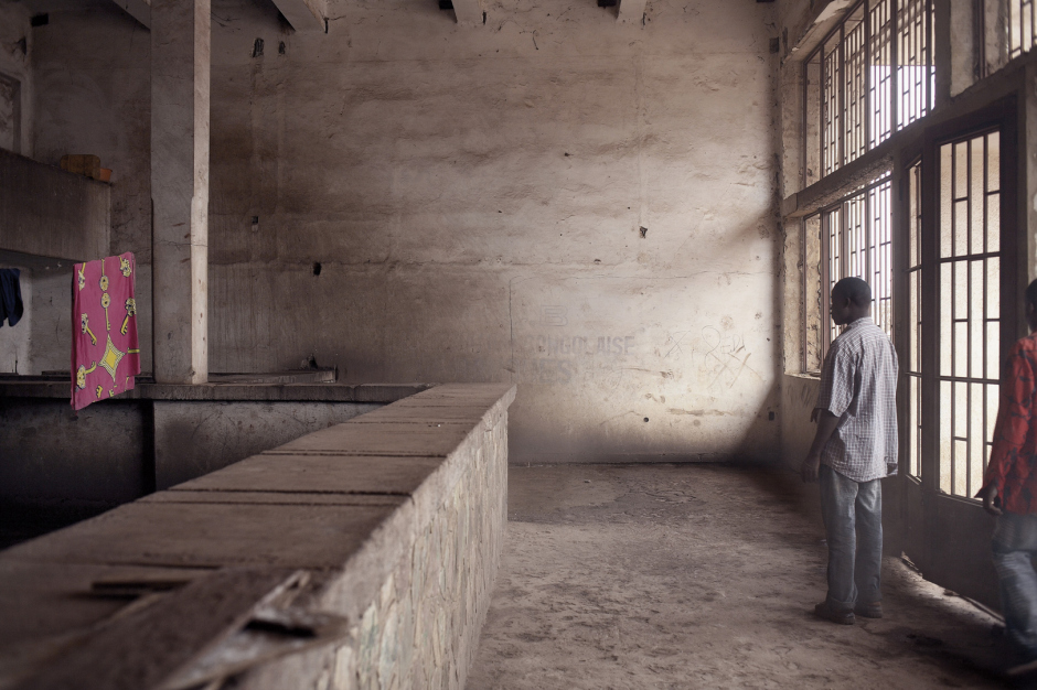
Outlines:
[[940,147],[940,489],[982,486],[997,417],[1001,317],[1001,139]]

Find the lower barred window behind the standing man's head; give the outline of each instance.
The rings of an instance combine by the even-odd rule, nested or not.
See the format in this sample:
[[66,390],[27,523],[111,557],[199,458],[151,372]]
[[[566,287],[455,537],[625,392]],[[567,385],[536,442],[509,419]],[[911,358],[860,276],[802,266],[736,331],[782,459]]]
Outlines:
[[803,370],[817,373],[838,326],[828,295],[843,278],[872,287],[872,317],[892,337],[892,198],[889,175],[806,219],[803,256]]

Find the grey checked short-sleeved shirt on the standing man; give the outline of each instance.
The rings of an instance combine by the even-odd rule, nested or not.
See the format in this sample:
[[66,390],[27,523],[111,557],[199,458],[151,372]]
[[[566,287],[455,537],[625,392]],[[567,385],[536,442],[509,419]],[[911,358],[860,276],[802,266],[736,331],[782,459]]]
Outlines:
[[870,317],[853,322],[832,343],[815,407],[838,418],[822,464],[855,482],[896,472],[897,353]]

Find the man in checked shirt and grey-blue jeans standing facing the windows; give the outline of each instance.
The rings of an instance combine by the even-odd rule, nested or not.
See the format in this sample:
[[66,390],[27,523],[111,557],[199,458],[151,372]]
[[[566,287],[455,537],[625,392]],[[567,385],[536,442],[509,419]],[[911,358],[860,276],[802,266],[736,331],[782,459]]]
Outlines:
[[814,614],[853,625],[855,614],[883,617],[880,479],[897,472],[897,353],[859,278],[835,283],[831,313],[845,328],[824,358],[803,481],[821,481],[828,542],[828,594]]

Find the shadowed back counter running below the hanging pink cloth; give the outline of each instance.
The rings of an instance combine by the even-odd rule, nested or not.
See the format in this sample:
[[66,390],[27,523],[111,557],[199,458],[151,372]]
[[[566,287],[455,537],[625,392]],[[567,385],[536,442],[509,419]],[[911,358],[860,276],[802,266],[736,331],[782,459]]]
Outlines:
[[0,507],[111,508],[431,384],[142,384],[78,413],[68,381],[0,381]]

